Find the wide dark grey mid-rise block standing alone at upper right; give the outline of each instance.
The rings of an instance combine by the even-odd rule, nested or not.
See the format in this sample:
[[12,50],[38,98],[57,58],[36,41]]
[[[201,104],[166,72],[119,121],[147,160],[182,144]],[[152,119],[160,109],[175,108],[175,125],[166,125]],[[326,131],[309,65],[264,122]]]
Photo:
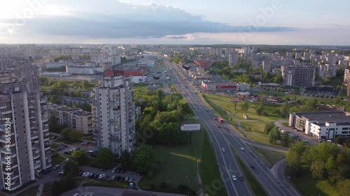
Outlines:
[[314,86],[316,68],[314,66],[281,66],[284,86]]

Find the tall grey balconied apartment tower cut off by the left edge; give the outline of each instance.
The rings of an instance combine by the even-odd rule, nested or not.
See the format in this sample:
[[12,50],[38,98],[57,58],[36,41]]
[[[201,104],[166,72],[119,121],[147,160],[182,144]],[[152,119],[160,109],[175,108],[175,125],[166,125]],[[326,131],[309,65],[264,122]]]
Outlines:
[[38,75],[31,73],[24,74],[28,77],[0,76],[0,184],[4,189],[16,190],[51,167],[48,112],[38,86],[29,86],[29,81],[38,80]]

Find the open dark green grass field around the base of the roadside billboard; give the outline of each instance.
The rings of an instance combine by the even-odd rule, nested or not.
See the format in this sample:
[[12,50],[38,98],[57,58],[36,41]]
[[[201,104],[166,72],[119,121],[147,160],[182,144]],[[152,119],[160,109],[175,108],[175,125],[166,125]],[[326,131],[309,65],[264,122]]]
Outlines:
[[[169,184],[167,190],[173,193],[181,193],[177,190],[179,185],[187,186],[189,177],[190,189],[199,190],[197,181],[197,161],[200,161],[201,174],[204,184],[211,184],[215,179],[221,179],[216,164],[216,158],[212,146],[207,138],[205,130],[192,133],[192,143],[183,146],[155,146],[158,158],[160,159],[159,171],[155,172],[152,179],[147,176],[139,181],[141,189],[150,190],[151,184],[160,191],[160,183],[163,181]],[[205,158],[203,156],[205,156]],[[203,158],[203,160],[201,160]],[[203,167],[205,169],[203,169]],[[225,190],[218,190],[218,193],[226,195]],[[186,193],[187,194],[187,190]]]

